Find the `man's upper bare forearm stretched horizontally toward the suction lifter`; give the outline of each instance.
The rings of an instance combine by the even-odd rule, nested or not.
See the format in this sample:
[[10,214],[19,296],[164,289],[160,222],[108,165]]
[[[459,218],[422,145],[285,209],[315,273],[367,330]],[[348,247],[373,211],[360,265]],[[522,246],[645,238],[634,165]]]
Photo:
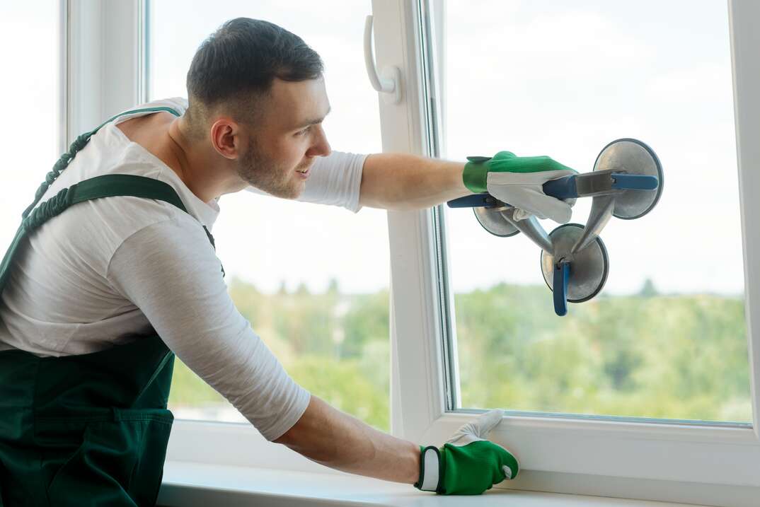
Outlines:
[[362,170],[359,203],[382,209],[423,209],[472,194],[462,182],[464,162],[403,153],[375,153]]

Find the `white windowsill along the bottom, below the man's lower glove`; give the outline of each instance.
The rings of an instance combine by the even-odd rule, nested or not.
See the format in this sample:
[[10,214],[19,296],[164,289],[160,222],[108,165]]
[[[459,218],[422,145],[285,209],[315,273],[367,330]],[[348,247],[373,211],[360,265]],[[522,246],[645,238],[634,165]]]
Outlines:
[[[440,496],[410,485],[350,474],[316,474],[270,468],[234,467],[188,461],[166,461],[157,505],[388,505],[435,507],[689,507],[686,504],[563,495],[519,490],[489,490],[480,496]],[[693,507],[693,506],[692,506]]]

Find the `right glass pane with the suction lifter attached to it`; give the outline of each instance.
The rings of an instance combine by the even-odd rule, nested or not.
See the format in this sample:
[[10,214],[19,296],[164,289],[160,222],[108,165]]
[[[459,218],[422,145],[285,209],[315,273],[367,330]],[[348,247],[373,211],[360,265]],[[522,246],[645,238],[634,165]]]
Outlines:
[[508,150],[589,172],[635,137],[665,173],[651,213],[603,229],[606,285],[564,317],[539,247],[446,210],[461,407],[751,421],[725,2],[445,9],[448,158]]

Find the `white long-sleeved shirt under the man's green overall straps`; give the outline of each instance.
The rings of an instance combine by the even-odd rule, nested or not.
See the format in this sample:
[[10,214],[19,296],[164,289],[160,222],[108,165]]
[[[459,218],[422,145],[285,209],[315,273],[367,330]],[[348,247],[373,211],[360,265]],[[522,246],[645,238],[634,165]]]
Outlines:
[[[158,105],[182,114],[187,102],[140,107]],[[160,200],[107,197],[75,204],[33,231],[0,294],[0,350],[87,354],[155,329],[265,438],[277,439],[299,420],[310,394],[287,375],[230,299],[202,227],[212,229],[217,200],[198,199],[171,168],[116,128],[141,114],[101,128],[40,202],[87,178],[129,174],[171,185],[188,213]],[[299,200],[357,212],[364,159],[337,152],[318,157]],[[40,181],[44,174],[40,170]]]

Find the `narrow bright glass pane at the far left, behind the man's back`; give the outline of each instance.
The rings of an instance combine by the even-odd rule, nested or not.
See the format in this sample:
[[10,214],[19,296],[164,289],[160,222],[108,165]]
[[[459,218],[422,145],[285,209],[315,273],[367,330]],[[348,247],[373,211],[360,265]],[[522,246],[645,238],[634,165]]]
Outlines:
[[[59,153],[58,2],[0,3],[0,44],[4,79],[0,137],[4,140],[0,178],[0,244],[11,244],[21,213],[34,200]],[[20,51],[10,50],[24,41]],[[11,99],[12,98],[12,99]]]

